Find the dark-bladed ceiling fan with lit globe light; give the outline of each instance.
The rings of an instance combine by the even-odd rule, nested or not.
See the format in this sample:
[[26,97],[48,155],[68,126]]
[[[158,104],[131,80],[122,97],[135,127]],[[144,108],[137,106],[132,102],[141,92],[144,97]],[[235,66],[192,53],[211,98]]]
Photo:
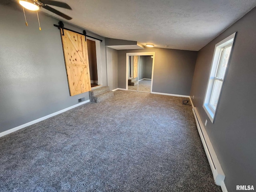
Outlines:
[[65,9],[70,9],[72,10],[72,8],[64,3],[64,2],[59,2],[59,1],[54,1],[54,0],[19,0],[19,3],[26,9],[28,10],[32,10],[32,11],[37,11],[39,10],[39,8],[44,8],[50,12],[53,12],[67,20],[72,19],[70,16],[67,16],[66,14],[48,6],[48,5],[52,5],[52,6],[57,6],[57,7],[62,7]]

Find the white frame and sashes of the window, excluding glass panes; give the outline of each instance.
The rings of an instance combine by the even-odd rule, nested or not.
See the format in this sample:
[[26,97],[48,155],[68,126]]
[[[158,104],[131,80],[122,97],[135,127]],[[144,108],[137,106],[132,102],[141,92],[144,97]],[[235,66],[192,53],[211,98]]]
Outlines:
[[[225,77],[226,77],[226,73],[228,71],[230,58],[232,56],[232,50],[233,50],[235,36],[236,36],[236,32],[234,32],[232,35],[228,36],[227,38],[218,42],[215,45],[214,54],[213,54],[213,58],[212,58],[212,65],[211,65],[210,75],[209,75],[209,78],[208,78],[207,88],[206,88],[206,92],[205,92],[205,96],[204,96],[204,102],[203,102],[203,108],[204,108],[206,114],[208,115],[208,117],[210,118],[210,121],[212,123],[214,122],[214,117],[215,117],[215,114],[216,114],[216,111],[217,111],[217,108],[218,108],[218,103],[219,103],[219,100],[220,100],[220,94],[222,92],[222,86],[223,86],[223,83],[224,83],[224,80],[225,80]],[[221,62],[223,62],[223,54],[222,53],[223,53],[224,47],[226,47],[230,44],[231,44],[231,51],[230,51],[230,55],[229,55],[229,58],[228,58],[227,67],[226,67],[226,70],[224,72],[223,78],[219,78],[219,77],[217,77],[218,76],[217,73],[218,73],[218,70],[220,68]],[[221,84],[221,87],[220,87],[220,92],[219,92],[219,95],[218,95],[216,108],[214,109],[214,106],[212,106],[210,104],[210,101],[212,99],[214,85],[215,85],[216,81],[221,81],[222,84]]]

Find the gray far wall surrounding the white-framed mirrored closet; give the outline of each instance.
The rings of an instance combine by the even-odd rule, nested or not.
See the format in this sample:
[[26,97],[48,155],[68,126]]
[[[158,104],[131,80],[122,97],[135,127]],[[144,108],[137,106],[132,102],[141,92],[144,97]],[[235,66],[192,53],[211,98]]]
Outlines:
[[196,51],[163,48],[118,50],[118,88],[126,88],[126,53],[155,52],[153,92],[189,95]]

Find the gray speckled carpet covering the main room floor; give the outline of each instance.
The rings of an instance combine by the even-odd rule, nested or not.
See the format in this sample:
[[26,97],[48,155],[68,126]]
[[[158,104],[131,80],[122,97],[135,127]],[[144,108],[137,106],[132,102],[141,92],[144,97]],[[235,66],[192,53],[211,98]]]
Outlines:
[[221,192],[182,99],[118,90],[4,136],[0,190]]

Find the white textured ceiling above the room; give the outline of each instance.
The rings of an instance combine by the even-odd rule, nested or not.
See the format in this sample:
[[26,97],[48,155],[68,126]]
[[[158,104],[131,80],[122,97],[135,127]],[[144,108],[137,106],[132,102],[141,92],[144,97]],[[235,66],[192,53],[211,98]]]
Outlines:
[[60,1],[72,10],[52,7],[71,16],[71,24],[108,38],[180,50],[200,50],[256,6],[256,0]]

